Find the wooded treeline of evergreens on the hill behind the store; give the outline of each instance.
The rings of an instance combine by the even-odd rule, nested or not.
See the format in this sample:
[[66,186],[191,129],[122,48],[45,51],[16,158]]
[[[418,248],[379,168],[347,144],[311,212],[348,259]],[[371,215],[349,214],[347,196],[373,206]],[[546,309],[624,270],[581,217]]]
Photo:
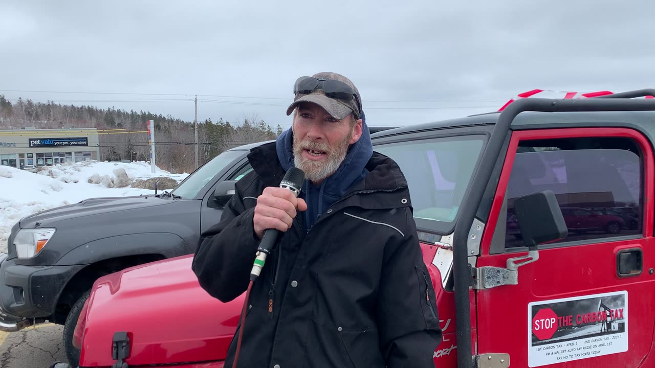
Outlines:
[[[100,160],[149,160],[149,137],[143,132],[146,120],[155,120],[158,166],[164,170],[170,170],[172,167],[176,172],[195,170],[193,122],[139,109],[100,109],[91,105],[60,105],[50,100],[44,103],[24,98],[18,98],[12,103],[6,96],[0,95],[0,129],[17,126],[33,126],[37,129],[125,129],[122,132],[107,131],[98,134]],[[225,149],[274,139],[280,133],[282,127],[279,124],[275,132],[272,126],[259,119],[256,113],[236,123],[222,118],[215,122],[206,119],[198,124],[198,164],[204,164]]]

